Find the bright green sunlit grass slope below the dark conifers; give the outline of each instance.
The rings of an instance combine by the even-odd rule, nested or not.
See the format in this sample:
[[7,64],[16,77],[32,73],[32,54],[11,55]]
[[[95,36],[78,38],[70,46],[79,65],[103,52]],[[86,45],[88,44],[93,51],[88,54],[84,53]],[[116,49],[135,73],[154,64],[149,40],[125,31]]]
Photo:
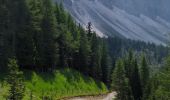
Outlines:
[[[24,100],[41,100],[42,97],[57,100],[63,97],[95,95],[108,92],[99,81],[71,69],[57,70],[53,74],[24,71],[26,91]],[[2,84],[2,82],[1,82]],[[0,100],[7,94],[8,86],[0,85]]]

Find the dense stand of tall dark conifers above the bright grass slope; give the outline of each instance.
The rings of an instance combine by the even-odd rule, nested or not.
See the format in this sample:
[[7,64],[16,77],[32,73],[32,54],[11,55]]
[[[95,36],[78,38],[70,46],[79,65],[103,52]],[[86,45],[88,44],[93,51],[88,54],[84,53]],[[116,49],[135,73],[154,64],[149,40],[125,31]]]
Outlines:
[[15,56],[23,69],[52,72],[59,66],[75,68],[96,79],[109,76],[104,68],[106,50],[91,23],[85,31],[62,4],[53,5],[52,0],[14,2],[4,1],[0,7],[0,63],[4,67],[7,58]]

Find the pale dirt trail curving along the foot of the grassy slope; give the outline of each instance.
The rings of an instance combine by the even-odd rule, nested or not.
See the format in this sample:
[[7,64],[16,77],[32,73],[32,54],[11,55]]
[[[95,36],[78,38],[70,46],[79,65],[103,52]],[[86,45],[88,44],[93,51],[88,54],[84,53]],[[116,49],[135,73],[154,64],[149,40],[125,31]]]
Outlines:
[[115,96],[116,92],[111,92],[106,95],[73,97],[65,100],[113,100]]

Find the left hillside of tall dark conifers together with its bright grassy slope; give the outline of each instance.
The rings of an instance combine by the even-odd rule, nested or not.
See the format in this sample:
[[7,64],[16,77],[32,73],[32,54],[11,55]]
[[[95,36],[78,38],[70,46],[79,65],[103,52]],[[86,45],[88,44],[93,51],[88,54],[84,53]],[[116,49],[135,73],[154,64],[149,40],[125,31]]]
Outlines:
[[78,26],[62,4],[9,0],[0,11],[0,72],[7,74],[0,74],[0,100],[107,92],[111,66],[104,41],[91,26],[89,32]]

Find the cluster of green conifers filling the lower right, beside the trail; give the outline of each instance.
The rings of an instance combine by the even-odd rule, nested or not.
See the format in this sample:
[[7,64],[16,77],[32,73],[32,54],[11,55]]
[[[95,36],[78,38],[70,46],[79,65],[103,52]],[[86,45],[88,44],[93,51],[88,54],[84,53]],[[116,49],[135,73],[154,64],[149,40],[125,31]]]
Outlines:
[[[141,63],[138,64],[133,52],[129,52],[125,60],[118,60],[112,75],[112,88],[118,93],[117,99],[130,94],[125,94],[122,88],[129,87],[134,100],[169,100],[169,73],[170,58],[168,57],[163,68],[154,75],[150,75],[148,60],[143,54]],[[139,66],[140,65],[140,69]],[[127,84],[125,80],[128,79]],[[124,82],[122,82],[124,81]],[[130,93],[130,92],[129,92]]]

